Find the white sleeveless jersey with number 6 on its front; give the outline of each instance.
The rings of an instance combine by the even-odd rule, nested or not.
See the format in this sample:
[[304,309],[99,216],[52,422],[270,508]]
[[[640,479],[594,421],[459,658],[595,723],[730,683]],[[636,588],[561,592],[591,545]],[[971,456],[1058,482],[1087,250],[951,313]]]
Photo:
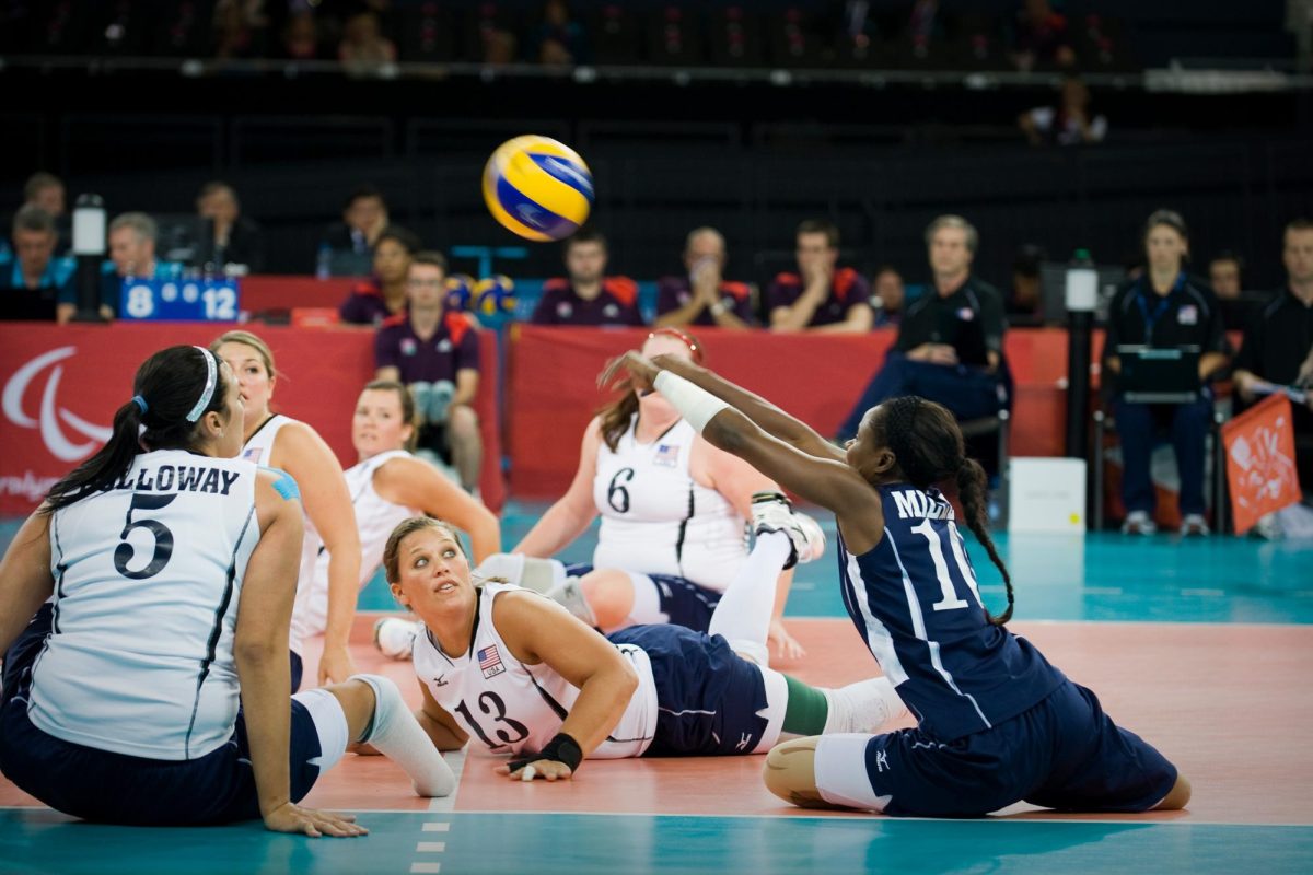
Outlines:
[[692,425],[679,420],[639,443],[637,424],[634,415],[614,451],[605,442],[597,447],[592,500],[601,530],[593,567],[675,575],[725,592],[747,558],[747,521],[689,474]]

